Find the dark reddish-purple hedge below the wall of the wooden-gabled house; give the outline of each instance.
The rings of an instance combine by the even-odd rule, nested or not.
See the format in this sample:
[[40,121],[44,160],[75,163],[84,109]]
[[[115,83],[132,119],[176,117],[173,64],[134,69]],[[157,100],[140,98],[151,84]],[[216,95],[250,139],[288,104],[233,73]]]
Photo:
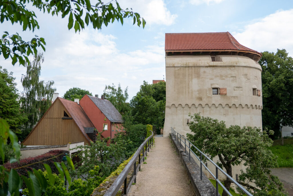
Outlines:
[[16,169],[18,174],[28,177],[28,171],[33,171],[33,169],[44,170],[44,163],[47,163],[52,169],[52,173],[56,173],[58,175],[59,173],[54,165],[54,162],[62,162],[62,158],[63,156],[65,156],[65,153],[68,154],[69,152],[64,150],[52,150],[39,156],[21,159],[19,163],[5,163],[4,167],[8,170],[10,170],[11,168],[19,168]]

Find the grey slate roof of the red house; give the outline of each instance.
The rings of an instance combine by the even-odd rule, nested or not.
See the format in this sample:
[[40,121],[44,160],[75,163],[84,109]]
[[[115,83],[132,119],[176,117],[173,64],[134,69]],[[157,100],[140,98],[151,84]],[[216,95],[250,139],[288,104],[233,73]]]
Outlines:
[[93,103],[103,112],[103,114],[109,119],[111,122],[122,123],[122,116],[119,111],[113,106],[113,104],[106,99],[100,99],[98,97],[88,96]]

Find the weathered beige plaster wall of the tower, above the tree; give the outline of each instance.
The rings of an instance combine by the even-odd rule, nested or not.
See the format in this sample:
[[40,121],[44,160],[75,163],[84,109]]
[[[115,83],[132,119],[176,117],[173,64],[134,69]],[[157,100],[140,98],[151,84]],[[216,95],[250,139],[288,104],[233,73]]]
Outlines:
[[[182,135],[190,133],[188,114],[200,112],[226,121],[226,125],[262,128],[260,65],[243,56],[222,55],[221,62],[211,56],[166,56],[166,110],[164,137],[173,127]],[[226,95],[212,95],[212,88],[226,88]]]

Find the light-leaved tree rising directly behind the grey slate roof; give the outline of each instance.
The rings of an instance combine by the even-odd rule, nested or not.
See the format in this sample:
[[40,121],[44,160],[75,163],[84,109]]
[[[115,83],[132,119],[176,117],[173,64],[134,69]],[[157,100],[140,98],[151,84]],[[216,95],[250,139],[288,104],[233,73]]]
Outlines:
[[105,86],[103,96],[105,99],[109,100],[113,106],[120,112],[120,114],[125,114],[130,110],[129,104],[126,103],[128,99],[127,93],[128,87],[123,90],[121,89],[120,83],[118,84],[118,88],[116,89],[115,85]]

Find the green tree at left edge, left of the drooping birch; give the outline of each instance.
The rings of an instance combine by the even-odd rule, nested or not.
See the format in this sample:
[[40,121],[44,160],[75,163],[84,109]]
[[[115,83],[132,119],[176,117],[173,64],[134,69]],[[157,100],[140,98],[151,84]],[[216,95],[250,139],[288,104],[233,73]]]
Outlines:
[[27,117],[20,113],[18,90],[12,72],[0,66],[0,117],[5,119],[14,133],[21,133],[21,125]]

